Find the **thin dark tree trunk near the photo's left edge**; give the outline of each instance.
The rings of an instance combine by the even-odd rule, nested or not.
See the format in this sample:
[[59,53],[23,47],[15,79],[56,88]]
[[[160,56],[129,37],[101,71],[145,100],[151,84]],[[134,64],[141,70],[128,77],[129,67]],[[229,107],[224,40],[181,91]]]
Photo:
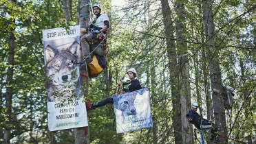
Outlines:
[[[14,21],[15,23],[15,21]],[[6,125],[10,124],[10,117],[12,114],[12,75],[13,75],[13,65],[14,65],[14,34],[12,31],[14,31],[15,28],[10,29],[10,37],[9,37],[9,57],[8,57],[8,71],[6,76],[6,115],[8,115],[9,121],[6,121]],[[6,132],[4,134],[4,143],[10,144],[10,127],[5,128]]]

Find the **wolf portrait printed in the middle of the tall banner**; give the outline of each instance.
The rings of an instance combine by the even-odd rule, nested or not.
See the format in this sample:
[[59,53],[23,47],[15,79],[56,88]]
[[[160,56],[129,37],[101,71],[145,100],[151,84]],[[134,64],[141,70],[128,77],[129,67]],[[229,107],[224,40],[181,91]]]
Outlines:
[[[78,61],[79,37],[44,41],[47,102],[83,97]],[[72,62],[73,61],[73,62]]]

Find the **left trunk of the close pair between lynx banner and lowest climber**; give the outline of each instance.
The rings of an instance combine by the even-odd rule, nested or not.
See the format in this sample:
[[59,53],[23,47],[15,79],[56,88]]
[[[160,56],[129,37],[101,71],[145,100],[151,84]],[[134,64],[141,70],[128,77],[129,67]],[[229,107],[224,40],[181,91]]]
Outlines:
[[[173,20],[171,19],[171,9],[169,7],[168,0],[161,0],[162,4],[162,14],[164,18],[164,33],[166,37],[174,38],[173,32]],[[173,97],[173,128],[174,128],[174,136],[175,143],[182,142],[182,135],[178,132],[181,132],[181,115],[180,115],[180,95],[178,93],[178,84],[175,81],[178,77],[175,75],[177,72],[177,55],[175,51],[175,43],[174,40],[167,39],[167,54],[169,60],[169,71],[171,77],[171,96]],[[177,132],[178,131],[178,132]]]

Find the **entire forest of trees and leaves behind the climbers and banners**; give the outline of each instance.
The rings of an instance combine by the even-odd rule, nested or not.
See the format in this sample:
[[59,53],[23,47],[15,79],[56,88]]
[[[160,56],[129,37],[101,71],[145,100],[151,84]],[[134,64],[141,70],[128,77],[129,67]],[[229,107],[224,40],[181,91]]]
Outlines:
[[[89,78],[93,103],[119,92],[135,68],[150,88],[153,126],[116,134],[114,106],[87,112],[89,143],[200,143],[186,114],[219,128],[222,141],[256,143],[256,1],[0,1],[0,143],[78,143],[78,130],[48,132],[43,29],[78,25],[100,3],[109,16],[107,68]],[[81,14],[81,13],[80,13]],[[81,24],[81,22],[80,22]],[[224,86],[231,86],[225,105]],[[211,130],[204,131],[206,143]]]

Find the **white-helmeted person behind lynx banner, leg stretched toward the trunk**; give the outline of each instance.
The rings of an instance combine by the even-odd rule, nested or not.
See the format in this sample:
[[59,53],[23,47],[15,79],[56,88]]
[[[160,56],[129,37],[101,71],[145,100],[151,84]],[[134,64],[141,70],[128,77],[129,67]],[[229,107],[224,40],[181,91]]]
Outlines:
[[[140,82],[137,80],[137,72],[134,68],[131,68],[127,71],[128,78],[131,80],[129,82],[129,86],[127,88],[124,88],[125,92],[133,92],[142,89],[140,86]],[[92,110],[101,106],[105,106],[106,104],[114,104],[113,101],[113,96],[112,97],[107,97],[107,99],[104,99],[102,101],[99,101],[96,104],[92,104],[91,101],[86,102],[86,108],[87,110]]]

